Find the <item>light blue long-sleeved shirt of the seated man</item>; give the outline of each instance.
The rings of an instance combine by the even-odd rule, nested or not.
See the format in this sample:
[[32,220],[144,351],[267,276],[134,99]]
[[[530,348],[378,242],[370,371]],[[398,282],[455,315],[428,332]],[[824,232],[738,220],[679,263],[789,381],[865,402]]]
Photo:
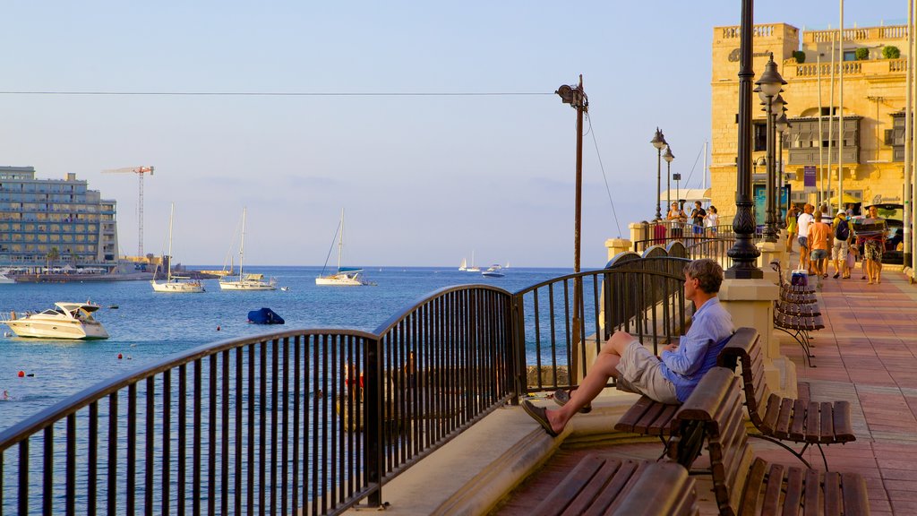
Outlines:
[[675,385],[682,403],[701,377],[716,365],[716,356],[735,331],[733,318],[717,297],[707,299],[691,318],[691,329],[681,337],[674,352],[662,352],[662,376]]

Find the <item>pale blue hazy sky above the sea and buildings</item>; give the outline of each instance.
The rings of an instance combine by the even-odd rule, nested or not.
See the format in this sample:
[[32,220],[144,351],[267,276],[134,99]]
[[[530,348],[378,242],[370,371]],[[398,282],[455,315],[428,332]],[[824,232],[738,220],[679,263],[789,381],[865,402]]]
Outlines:
[[[740,9],[0,0],[0,165],[116,199],[126,254],[138,177],[102,171],[152,165],[144,252],[165,249],[174,203],[183,264],[223,264],[248,208],[247,264],[321,265],[343,208],[346,265],[571,267],[576,112],[554,92],[581,73],[582,266],[601,267],[606,239],[655,215],[657,127],[681,186],[703,185],[713,27]],[[844,9],[847,27],[907,20],[906,0]],[[755,21],[837,27],[839,3],[758,1]]]

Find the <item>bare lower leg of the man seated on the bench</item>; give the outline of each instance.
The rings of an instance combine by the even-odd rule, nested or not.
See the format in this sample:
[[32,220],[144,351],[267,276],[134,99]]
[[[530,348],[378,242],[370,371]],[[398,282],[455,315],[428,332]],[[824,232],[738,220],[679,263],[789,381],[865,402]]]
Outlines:
[[567,404],[559,409],[546,411],[547,421],[550,421],[551,429],[554,432],[562,432],[567,426],[567,421],[602,392],[602,389],[608,384],[608,378],[618,376],[617,367],[621,362],[621,355],[624,354],[627,344],[634,340],[634,336],[626,331],[615,331],[612,338],[602,344],[599,355],[595,357],[595,362],[592,363],[586,377],[582,379],[580,387],[570,392],[570,400]]

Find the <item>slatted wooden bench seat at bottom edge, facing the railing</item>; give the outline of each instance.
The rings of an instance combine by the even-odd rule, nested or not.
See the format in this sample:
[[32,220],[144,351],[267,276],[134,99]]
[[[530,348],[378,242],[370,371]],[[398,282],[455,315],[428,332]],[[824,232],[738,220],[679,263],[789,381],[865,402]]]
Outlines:
[[535,509],[538,516],[699,513],[694,479],[683,466],[602,454],[583,458]]

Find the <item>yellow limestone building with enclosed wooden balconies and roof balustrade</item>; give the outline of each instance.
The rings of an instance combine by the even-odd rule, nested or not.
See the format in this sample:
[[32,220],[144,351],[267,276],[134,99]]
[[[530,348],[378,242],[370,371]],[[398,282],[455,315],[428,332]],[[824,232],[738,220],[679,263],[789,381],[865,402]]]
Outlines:
[[[756,81],[772,52],[779,73],[788,83],[781,94],[791,126],[783,134],[782,179],[790,186],[790,200],[814,204],[836,196],[840,152],[846,201],[861,203],[857,207],[902,203],[907,26],[845,28],[841,52],[836,50],[841,47],[839,39],[836,29],[801,31],[783,23],[756,25],[754,29]],[[886,57],[898,53],[890,47],[900,52],[899,57]],[[842,67],[843,131],[839,92]],[[713,28],[711,197],[712,204],[722,207],[720,212],[726,216],[735,214],[738,72],[739,28]],[[753,194],[762,191],[766,180],[762,158],[766,154],[767,120],[758,102],[754,95],[753,163],[762,164],[753,169]],[[808,192],[803,187],[807,172],[816,182]],[[756,215],[762,218],[762,214]]]

